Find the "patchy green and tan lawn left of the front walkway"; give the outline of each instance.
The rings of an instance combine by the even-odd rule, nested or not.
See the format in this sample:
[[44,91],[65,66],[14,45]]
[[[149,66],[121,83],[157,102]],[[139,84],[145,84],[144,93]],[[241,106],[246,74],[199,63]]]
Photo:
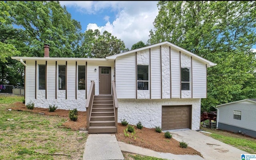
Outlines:
[[7,111],[22,98],[0,96],[0,160],[82,159],[87,134],[58,128],[66,120],[59,116]]

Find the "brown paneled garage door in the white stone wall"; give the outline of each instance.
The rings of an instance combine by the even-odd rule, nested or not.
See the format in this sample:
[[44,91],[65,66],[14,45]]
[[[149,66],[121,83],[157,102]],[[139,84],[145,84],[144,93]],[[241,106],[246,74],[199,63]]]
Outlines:
[[192,106],[162,106],[162,130],[191,129]]

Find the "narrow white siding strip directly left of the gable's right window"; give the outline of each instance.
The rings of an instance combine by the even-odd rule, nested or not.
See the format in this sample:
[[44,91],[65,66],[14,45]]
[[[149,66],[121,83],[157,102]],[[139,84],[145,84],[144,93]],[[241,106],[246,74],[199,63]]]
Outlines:
[[180,52],[171,47],[172,98],[180,98]]

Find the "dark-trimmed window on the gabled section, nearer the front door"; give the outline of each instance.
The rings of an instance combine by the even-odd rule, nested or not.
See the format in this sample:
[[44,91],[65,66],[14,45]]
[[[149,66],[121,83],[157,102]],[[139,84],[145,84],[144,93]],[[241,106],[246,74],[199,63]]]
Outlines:
[[137,65],[138,90],[148,90],[148,66]]

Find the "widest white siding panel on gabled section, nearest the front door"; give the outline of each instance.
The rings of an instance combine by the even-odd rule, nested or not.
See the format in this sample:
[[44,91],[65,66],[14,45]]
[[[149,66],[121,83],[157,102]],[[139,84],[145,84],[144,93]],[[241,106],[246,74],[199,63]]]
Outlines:
[[136,98],[135,53],[116,58],[116,94],[118,98]]

